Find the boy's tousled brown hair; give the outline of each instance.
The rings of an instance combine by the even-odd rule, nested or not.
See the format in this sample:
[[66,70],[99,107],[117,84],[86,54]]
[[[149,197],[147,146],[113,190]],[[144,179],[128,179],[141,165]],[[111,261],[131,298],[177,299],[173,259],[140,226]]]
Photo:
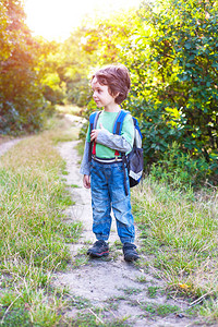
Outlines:
[[116,97],[116,104],[120,105],[130,92],[130,73],[125,65],[108,65],[97,71],[93,77],[96,77],[101,85],[108,85],[108,92]]

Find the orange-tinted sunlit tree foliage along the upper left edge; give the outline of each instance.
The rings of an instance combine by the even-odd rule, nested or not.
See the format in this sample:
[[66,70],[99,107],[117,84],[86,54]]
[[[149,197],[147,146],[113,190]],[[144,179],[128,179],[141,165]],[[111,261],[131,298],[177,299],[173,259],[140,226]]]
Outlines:
[[32,132],[40,128],[46,107],[36,70],[39,45],[24,23],[21,1],[4,0],[0,11],[4,16],[0,29],[0,131]]

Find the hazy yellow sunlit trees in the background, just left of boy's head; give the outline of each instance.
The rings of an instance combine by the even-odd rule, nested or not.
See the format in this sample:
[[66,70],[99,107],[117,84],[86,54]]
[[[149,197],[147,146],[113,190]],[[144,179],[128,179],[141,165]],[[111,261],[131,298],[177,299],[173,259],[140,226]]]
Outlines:
[[[69,39],[57,45],[56,51],[48,57],[50,70],[47,70],[45,77],[53,85],[48,85],[46,80],[44,83],[47,85],[46,97],[53,98],[55,102],[60,102],[61,99],[83,107],[89,100],[88,70],[93,58],[83,51],[85,34],[85,27],[78,27]],[[58,96],[58,92],[62,94],[62,98]]]

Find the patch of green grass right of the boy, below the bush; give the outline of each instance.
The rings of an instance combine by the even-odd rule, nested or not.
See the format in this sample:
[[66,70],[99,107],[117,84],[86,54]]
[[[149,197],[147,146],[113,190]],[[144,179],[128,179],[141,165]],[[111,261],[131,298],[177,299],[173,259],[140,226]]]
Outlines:
[[[217,307],[218,295],[217,189],[182,193],[145,179],[133,190],[132,199],[141,250],[156,277],[166,280],[173,296],[194,305],[203,303],[201,312],[213,316],[211,301]],[[143,267],[143,261],[140,265]]]

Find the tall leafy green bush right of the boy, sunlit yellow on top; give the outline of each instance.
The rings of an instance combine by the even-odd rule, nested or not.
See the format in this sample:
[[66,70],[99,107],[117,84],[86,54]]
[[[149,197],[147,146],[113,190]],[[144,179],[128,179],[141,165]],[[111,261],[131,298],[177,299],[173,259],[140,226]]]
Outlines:
[[144,4],[140,17],[124,59],[133,81],[128,108],[142,121],[145,164],[149,169],[149,165],[161,160],[175,141],[184,156],[190,153],[196,160],[204,156],[215,177],[216,2],[159,1]]

